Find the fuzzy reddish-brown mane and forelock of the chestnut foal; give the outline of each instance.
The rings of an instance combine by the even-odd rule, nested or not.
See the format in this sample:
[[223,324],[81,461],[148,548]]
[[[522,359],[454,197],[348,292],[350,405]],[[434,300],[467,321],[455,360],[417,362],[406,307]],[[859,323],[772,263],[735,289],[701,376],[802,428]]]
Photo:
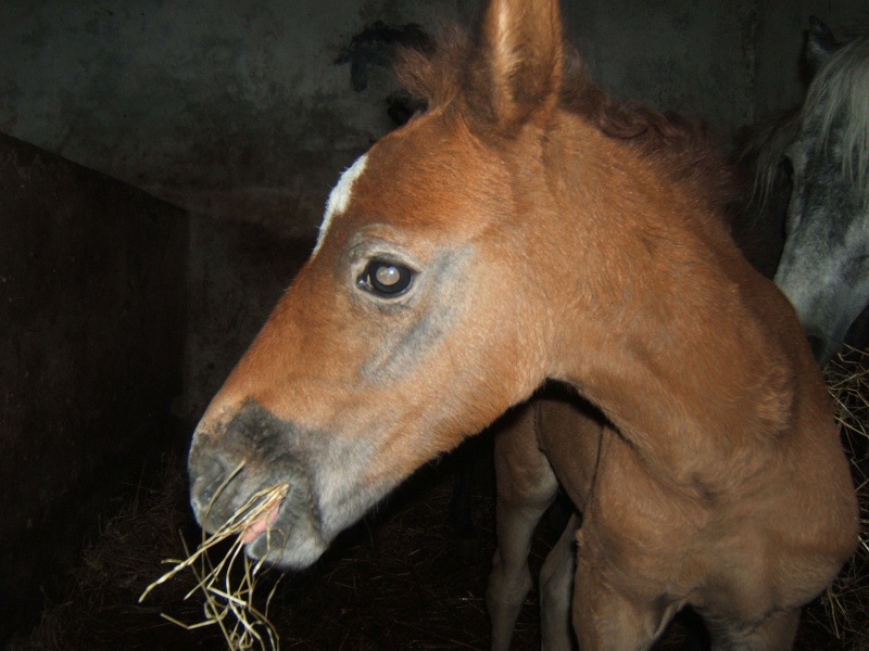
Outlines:
[[[471,66],[486,65],[474,59],[474,50],[468,33],[454,26],[442,30],[432,52],[400,53],[395,72],[402,86],[425,100],[429,110],[446,105],[458,95],[484,100],[489,89],[469,81],[480,78],[469,74]],[[563,110],[631,148],[715,212],[743,200],[742,183],[727,162],[723,143],[705,125],[614,98],[591,78],[579,53],[569,44],[565,46],[563,74]]]

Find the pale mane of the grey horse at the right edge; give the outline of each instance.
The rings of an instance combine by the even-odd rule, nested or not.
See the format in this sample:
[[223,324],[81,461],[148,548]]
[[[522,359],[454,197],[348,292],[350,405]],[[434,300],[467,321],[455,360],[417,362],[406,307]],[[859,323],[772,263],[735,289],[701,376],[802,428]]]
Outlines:
[[753,127],[742,138],[740,158],[753,163],[753,202],[763,208],[772,192],[784,150],[808,119],[819,119],[820,141],[827,146],[840,124],[842,175],[869,200],[869,35],[848,41],[821,65],[803,105]]

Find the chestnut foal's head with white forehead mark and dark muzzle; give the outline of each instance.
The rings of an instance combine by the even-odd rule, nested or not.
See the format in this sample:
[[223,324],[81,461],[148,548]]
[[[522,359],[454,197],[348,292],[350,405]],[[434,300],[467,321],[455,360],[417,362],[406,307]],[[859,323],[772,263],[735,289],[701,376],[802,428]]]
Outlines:
[[313,562],[543,381],[552,331],[533,197],[513,186],[519,166],[539,174],[542,114],[557,100],[557,5],[540,4],[496,2],[479,43],[454,36],[436,62],[406,64],[428,111],[342,175],[314,255],[200,422],[189,468],[205,528],[289,482],[252,556]]

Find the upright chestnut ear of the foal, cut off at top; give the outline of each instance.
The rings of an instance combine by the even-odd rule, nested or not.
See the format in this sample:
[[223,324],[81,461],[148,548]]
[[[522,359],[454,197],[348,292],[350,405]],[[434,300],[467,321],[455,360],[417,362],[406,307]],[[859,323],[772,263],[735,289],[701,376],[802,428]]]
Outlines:
[[468,101],[512,129],[545,118],[562,90],[558,0],[491,0],[469,67]]

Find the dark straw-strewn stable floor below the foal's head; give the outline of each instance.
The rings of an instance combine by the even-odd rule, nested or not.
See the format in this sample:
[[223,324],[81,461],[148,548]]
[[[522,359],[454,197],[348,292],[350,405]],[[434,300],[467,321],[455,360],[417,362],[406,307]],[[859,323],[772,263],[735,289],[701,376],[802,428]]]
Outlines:
[[[476,537],[459,540],[450,519],[455,468],[462,456],[476,457],[471,487]],[[340,537],[312,570],[280,578],[269,618],[284,650],[436,650],[489,647],[483,604],[494,549],[493,476],[490,448],[473,448],[423,469],[388,502]],[[541,526],[532,570],[545,556],[553,532]],[[106,524],[88,550],[68,598],[52,604],[29,639],[11,651],[226,649],[215,626],[185,630],[161,613],[193,624],[202,620],[202,600],[184,595],[194,587],[181,574],[155,588],[144,603],[142,590],[166,571],[161,559],[184,558],[179,534],[193,545],[199,531],[187,506],[186,474],[178,459],[166,462],[162,485],[141,488],[124,512]],[[270,591],[270,572],[262,600]],[[824,607],[804,616],[801,651],[867,651],[865,637],[836,639]],[[677,623],[656,647],[681,648]],[[515,649],[539,648],[537,593],[529,595],[516,630]]]

